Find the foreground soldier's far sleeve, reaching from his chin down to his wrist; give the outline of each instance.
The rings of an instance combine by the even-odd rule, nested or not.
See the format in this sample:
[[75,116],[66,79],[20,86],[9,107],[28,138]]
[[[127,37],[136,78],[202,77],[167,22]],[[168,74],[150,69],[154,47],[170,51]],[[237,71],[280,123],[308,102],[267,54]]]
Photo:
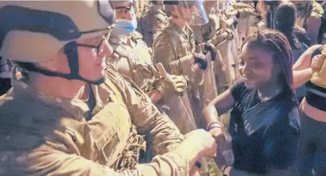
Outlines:
[[131,79],[125,80],[111,69],[107,73],[108,78],[117,82],[121,88],[133,125],[140,134],[148,136],[147,143],[153,147],[152,151],[164,154],[175,149],[183,141],[184,136],[170,118],[158,111],[149,97]]

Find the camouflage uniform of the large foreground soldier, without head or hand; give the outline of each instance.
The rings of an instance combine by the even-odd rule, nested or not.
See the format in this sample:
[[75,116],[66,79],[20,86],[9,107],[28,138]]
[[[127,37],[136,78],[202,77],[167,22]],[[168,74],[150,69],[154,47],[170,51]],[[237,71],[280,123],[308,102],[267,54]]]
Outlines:
[[[188,175],[186,156],[170,152],[183,140],[177,127],[111,66],[84,101],[17,85],[0,105],[1,175]],[[117,173],[121,154],[135,157],[126,148],[133,125],[163,155]]]

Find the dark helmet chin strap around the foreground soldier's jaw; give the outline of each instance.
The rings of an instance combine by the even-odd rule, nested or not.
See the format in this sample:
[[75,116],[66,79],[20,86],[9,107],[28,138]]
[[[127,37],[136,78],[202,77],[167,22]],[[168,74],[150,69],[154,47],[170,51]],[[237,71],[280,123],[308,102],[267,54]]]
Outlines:
[[84,79],[83,77],[80,76],[79,58],[78,58],[76,42],[69,42],[67,45],[65,45],[64,53],[66,54],[66,56],[68,58],[68,65],[71,70],[70,74],[45,70],[40,67],[36,67],[35,65],[28,67],[27,70],[29,70],[31,72],[39,72],[40,74],[44,74],[48,77],[62,77],[62,78],[69,79],[69,80],[77,79],[77,80],[84,81],[86,83],[90,83],[90,84],[94,84],[94,85],[99,85],[101,83],[104,83],[105,77],[102,77],[101,79],[98,79],[96,81],[90,81],[90,80]]

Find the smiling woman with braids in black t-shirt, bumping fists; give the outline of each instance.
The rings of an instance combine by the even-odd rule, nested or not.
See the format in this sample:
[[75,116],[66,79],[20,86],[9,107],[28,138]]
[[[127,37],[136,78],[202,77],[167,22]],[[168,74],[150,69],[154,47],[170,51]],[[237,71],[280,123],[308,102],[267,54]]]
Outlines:
[[[289,175],[299,141],[299,112],[286,36],[271,29],[247,38],[239,55],[242,79],[203,111],[207,130],[225,141],[216,121],[232,109],[230,127],[235,162],[223,175]],[[220,144],[219,144],[220,145]]]

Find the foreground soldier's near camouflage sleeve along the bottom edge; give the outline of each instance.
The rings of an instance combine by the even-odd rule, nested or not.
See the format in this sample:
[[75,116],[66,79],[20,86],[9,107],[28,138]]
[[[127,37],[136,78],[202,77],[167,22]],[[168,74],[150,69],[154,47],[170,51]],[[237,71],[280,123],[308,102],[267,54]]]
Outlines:
[[[30,152],[0,152],[1,175],[57,175],[57,176],[112,176],[112,175],[188,175],[188,160],[177,152],[156,156],[147,164],[136,165],[121,173],[77,154],[73,154],[73,143],[64,133],[48,140]],[[67,142],[68,141],[68,142]],[[72,144],[68,145],[66,144]]]

